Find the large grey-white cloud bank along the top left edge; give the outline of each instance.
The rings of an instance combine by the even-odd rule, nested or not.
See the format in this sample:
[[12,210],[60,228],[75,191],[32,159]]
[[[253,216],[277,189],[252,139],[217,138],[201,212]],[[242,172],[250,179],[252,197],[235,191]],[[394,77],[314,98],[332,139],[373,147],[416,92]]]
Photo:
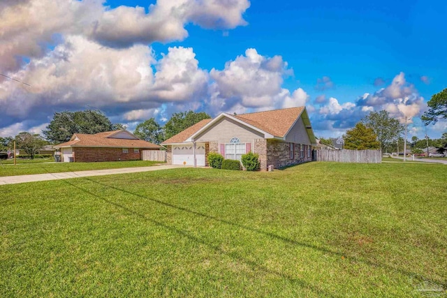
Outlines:
[[183,40],[189,22],[210,29],[244,25],[248,0],[159,0],[145,8],[110,9],[103,0],[20,0],[0,4],[0,68],[15,71],[23,58],[41,58],[66,34],[110,47]]

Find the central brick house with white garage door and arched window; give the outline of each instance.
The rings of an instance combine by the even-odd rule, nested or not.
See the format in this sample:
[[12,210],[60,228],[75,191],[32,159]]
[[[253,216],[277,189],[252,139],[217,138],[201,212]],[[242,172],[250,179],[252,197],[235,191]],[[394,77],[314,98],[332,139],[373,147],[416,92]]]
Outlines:
[[242,154],[259,154],[261,170],[312,161],[314,132],[305,107],[232,115],[221,113],[186,128],[162,143],[167,162],[207,165],[207,154],[240,160]]

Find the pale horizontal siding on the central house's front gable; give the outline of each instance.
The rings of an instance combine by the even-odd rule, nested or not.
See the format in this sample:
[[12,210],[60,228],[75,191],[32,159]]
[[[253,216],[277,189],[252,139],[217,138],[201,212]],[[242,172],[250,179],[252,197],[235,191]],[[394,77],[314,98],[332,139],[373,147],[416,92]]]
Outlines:
[[221,143],[229,143],[232,137],[238,137],[241,143],[251,143],[254,145],[255,139],[264,138],[263,133],[259,133],[254,129],[239,124],[238,122],[223,118],[217,121],[214,126],[196,137],[198,142],[217,141]]

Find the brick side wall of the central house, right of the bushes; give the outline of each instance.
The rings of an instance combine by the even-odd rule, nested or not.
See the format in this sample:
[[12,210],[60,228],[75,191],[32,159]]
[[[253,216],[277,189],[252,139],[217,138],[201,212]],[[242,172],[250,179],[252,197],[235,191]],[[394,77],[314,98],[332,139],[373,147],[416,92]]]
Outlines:
[[310,157],[307,157],[307,145],[304,146],[303,158],[300,157],[300,144],[295,144],[294,146],[294,158],[291,159],[289,142],[267,140],[267,165],[273,165],[274,168],[278,168],[312,161],[312,154]]

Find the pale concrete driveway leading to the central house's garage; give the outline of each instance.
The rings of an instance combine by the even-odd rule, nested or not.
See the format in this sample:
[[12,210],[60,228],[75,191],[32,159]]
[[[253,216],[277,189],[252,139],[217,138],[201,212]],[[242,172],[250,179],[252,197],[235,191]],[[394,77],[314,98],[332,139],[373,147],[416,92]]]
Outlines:
[[152,167],[123,167],[121,169],[62,172],[62,173],[49,173],[49,174],[32,174],[32,175],[22,175],[22,176],[7,176],[7,177],[0,177],[0,185],[19,184],[19,183],[36,182],[36,181],[58,180],[58,179],[70,179],[70,178],[80,178],[80,177],[90,177],[90,176],[102,176],[102,175],[111,175],[111,174],[149,172],[149,171],[156,171],[156,170],[168,170],[168,169],[173,169],[175,167],[184,167],[184,165],[154,165]]

